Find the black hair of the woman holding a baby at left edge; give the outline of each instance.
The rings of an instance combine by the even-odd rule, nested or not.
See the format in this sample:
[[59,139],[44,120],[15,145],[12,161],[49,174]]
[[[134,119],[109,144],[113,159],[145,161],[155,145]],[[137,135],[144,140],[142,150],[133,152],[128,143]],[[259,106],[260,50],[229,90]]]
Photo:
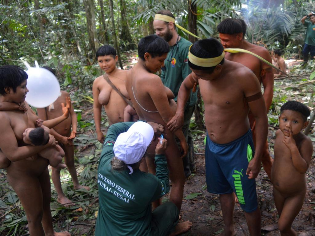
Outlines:
[[15,65],[4,65],[0,67],[0,94],[6,94],[5,88],[12,88],[16,92],[16,88],[27,79],[26,72]]

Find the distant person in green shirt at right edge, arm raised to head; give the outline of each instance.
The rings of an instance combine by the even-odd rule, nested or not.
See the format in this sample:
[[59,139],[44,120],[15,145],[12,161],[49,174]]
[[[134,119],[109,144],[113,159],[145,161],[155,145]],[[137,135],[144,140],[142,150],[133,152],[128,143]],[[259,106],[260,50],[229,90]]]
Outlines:
[[[310,21],[306,20],[309,17]],[[311,57],[315,56],[315,14],[310,13],[301,19],[301,22],[306,26],[306,35],[303,48],[303,60],[304,63],[308,61],[308,53],[311,52]]]

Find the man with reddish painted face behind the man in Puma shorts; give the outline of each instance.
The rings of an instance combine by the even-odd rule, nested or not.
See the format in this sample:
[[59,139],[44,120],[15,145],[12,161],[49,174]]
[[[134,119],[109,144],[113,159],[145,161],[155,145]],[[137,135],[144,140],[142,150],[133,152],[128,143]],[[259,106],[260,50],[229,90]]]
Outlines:
[[[269,51],[266,48],[254,45],[244,39],[246,33],[246,24],[240,19],[225,19],[218,26],[219,37],[224,48],[242,48],[253,52],[272,63]],[[264,99],[266,111],[268,113],[273,96],[273,71],[270,65],[263,63],[260,59],[248,53],[226,53],[225,58],[230,61],[241,63],[254,72],[260,84],[264,87]],[[252,128],[253,138],[255,140],[255,119],[249,112],[248,115],[250,127]],[[265,142],[265,148],[261,157],[261,162],[270,178],[272,158],[269,155],[268,142]]]

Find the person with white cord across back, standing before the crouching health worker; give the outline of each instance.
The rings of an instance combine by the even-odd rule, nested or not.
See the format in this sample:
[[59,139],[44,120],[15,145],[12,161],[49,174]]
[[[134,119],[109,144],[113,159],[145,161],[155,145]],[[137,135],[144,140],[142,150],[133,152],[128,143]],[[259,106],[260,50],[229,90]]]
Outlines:
[[[174,116],[176,103],[168,97],[169,89],[163,86],[159,76],[155,75],[164,64],[169,52],[168,43],[161,37],[149,35],[140,40],[138,44],[139,60],[137,64],[128,71],[126,88],[141,120],[153,121],[166,127],[166,123]],[[172,190],[169,200],[180,210],[185,184],[183,162],[180,158],[180,150],[175,142],[172,132],[164,130],[165,138],[168,140],[168,147],[165,155],[169,168],[169,177],[172,181]],[[181,130],[174,133],[180,140],[184,155],[187,153],[187,143]],[[155,147],[157,138],[150,147]],[[148,150],[154,156],[154,149]],[[154,158],[146,158],[150,173],[155,173]],[[156,207],[156,206],[155,206]]]

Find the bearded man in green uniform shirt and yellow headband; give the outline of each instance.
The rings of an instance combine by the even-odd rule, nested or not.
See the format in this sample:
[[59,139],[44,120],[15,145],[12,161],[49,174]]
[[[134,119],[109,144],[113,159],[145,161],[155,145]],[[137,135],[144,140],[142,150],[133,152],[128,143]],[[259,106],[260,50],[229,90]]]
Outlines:
[[[161,19],[161,20],[158,20]],[[192,45],[188,40],[180,37],[176,31],[175,16],[169,10],[161,10],[157,12],[153,21],[155,34],[164,38],[170,46],[169,53],[164,61],[164,67],[161,72],[161,79],[166,87],[169,87],[175,95],[177,102],[177,94],[181,83],[192,71],[188,66],[188,51]],[[194,146],[192,136],[190,134],[189,125],[192,114],[197,103],[197,92],[191,92],[185,105],[184,124],[182,131],[188,143],[188,153],[183,158],[184,172],[186,178],[196,171],[194,164]]]

